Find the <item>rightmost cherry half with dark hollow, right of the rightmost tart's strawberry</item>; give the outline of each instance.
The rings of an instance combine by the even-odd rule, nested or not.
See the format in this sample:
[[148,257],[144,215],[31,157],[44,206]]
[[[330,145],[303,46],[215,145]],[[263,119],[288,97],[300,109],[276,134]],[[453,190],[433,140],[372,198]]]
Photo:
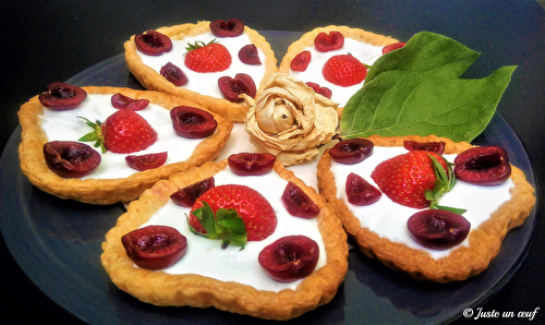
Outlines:
[[458,179],[477,185],[499,185],[511,176],[507,151],[500,146],[470,148],[455,158]]

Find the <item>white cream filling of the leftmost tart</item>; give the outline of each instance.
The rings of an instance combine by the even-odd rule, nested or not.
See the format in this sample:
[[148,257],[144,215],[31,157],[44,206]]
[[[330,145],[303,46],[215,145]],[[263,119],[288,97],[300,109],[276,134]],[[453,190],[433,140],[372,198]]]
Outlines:
[[[112,95],[89,94],[87,98],[76,108],[64,111],[52,111],[45,108],[41,116],[41,129],[49,141],[77,141],[83,135],[93,131],[86,124],[84,117],[89,121],[99,120],[104,122],[116,109],[111,105]],[[168,152],[165,165],[187,160],[195,146],[201,143],[199,139],[185,139],[175,134],[168,109],[158,105],[149,104],[143,110],[136,111],[157,132],[157,141],[144,151],[130,155],[145,155]],[[86,142],[93,146],[94,143]],[[100,152],[100,148],[97,148]],[[126,165],[128,154],[106,152],[101,154],[102,160],[98,168],[83,179],[118,179],[126,178],[135,172],[135,169]]]

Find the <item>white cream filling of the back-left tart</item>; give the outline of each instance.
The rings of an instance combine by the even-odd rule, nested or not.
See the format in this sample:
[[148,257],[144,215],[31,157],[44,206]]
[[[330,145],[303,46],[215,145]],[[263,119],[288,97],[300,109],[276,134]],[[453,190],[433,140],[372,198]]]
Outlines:
[[[203,41],[204,44],[208,44],[214,39],[227,47],[227,49],[229,50],[232,59],[232,63],[229,69],[220,72],[207,73],[195,72],[189,69],[184,63],[184,55],[187,51],[185,48],[187,47],[187,45],[195,44],[195,41]],[[262,64],[250,65],[243,63],[239,59],[239,50],[243,46],[249,44],[252,44],[252,41],[245,33],[237,37],[216,37],[210,32],[207,32],[197,36],[187,36],[182,40],[172,40],[172,50],[157,57],[146,56],[141,51],[137,51],[137,53],[145,65],[148,65],[157,72],[160,72],[161,67],[164,67],[168,62],[172,62],[172,64],[180,68],[189,80],[187,84],[181,86],[181,88],[187,88],[202,95],[223,98],[218,87],[218,79],[220,79],[221,76],[228,75],[230,77],[234,77],[237,73],[246,73],[252,76],[255,86],[259,87],[259,83],[262,82],[263,75],[265,74],[265,64],[263,64],[263,62],[265,62],[266,58],[265,53],[259,48],[257,48]]]

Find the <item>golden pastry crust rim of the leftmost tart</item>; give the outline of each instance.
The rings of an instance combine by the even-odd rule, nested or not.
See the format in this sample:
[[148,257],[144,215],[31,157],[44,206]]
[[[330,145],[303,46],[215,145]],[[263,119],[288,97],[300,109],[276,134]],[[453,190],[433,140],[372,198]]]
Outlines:
[[[83,88],[87,94],[113,95],[122,93],[135,99],[145,98],[149,99],[150,104],[159,105],[166,109],[182,105],[201,107],[192,99],[170,96],[158,92],[95,86]],[[21,169],[31,182],[40,190],[61,198],[73,198],[90,204],[106,205],[134,200],[158,180],[167,179],[175,172],[184,171],[194,166],[201,166],[207,160],[215,159],[231,136],[231,129],[233,128],[230,122],[214,115],[218,122],[216,132],[204,139],[196,146],[192,156],[185,161],[140,171],[122,179],[63,179],[52,172],[44,160],[43,147],[48,142],[40,127],[40,116],[44,109],[44,106],[38,100],[38,96],[35,96],[24,104],[19,111],[19,119],[23,130],[22,142],[19,147]]]

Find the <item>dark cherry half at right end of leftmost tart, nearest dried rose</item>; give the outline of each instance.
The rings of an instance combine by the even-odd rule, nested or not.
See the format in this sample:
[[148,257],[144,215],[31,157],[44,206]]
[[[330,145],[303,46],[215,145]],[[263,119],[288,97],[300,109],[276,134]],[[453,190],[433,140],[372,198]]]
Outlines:
[[206,137],[211,135],[218,127],[218,122],[211,113],[191,106],[172,108],[170,119],[175,134],[186,139]]

